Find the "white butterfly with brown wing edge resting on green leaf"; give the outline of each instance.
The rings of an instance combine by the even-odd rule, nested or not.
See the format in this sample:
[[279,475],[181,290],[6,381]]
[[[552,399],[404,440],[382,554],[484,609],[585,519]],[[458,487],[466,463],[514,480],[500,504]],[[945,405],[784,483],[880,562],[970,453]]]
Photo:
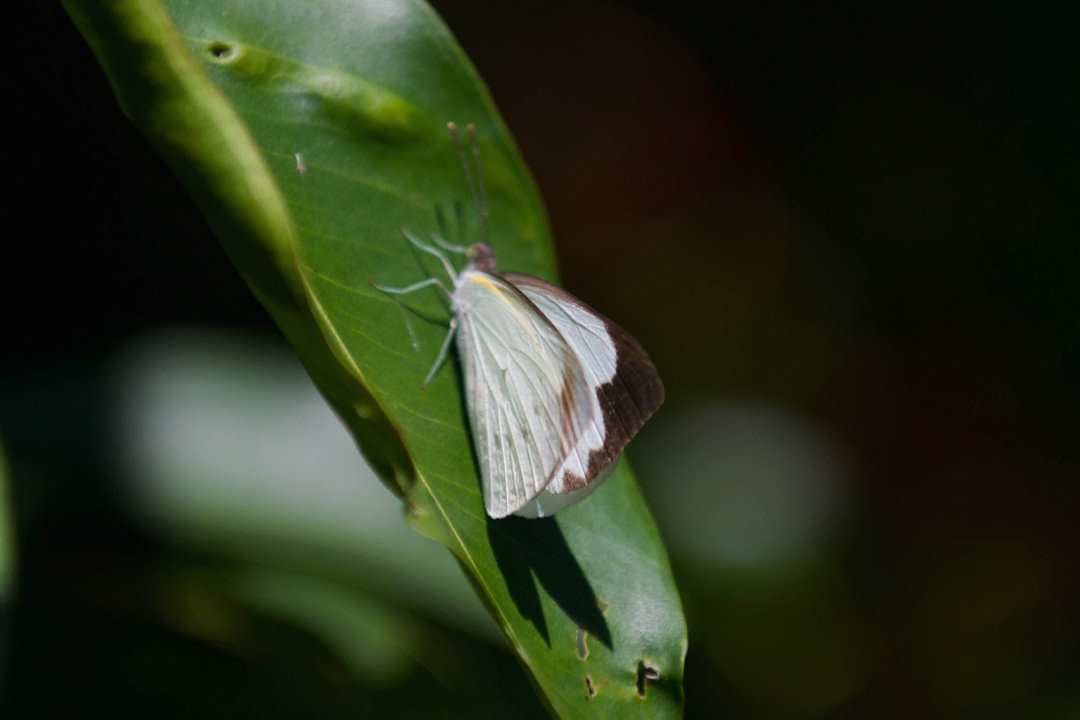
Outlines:
[[434,285],[449,297],[449,332],[424,384],[456,338],[487,514],[541,517],[582,500],[663,403],[649,356],[569,293],[530,275],[498,274],[495,252],[483,243],[463,248],[432,236],[468,255],[456,273],[437,248],[405,236],[442,261],[453,291],[434,277],[376,287],[400,295]]

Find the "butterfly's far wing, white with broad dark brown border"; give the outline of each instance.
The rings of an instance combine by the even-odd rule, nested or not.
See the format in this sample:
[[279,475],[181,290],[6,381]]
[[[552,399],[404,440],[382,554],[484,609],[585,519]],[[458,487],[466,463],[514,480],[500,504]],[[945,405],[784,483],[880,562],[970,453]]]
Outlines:
[[[546,488],[569,495],[559,505],[577,502],[589,486],[606,477],[626,443],[660,407],[664,386],[637,341],[581,300],[531,275],[507,273],[503,279],[559,331],[590,388],[590,421]],[[554,510],[549,506],[546,512]]]

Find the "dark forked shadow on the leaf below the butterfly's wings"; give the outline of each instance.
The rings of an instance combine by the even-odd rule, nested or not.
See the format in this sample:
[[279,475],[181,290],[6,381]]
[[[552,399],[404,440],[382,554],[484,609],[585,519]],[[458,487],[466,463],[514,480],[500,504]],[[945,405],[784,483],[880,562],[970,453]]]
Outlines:
[[551,646],[537,582],[570,620],[611,649],[611,631],[596,594],[553,518],[489,518],[487,535],[510,597],[544,642]]

